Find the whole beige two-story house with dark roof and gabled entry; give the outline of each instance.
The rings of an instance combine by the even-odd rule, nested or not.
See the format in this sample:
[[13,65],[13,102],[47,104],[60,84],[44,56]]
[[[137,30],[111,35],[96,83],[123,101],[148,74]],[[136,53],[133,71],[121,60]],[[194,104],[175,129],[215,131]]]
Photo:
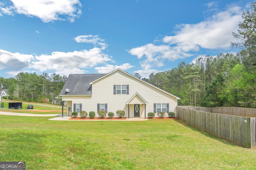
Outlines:
[[[125,111],[125,117],[148,117],[148,112],[174,111],[180,99],[119,68],[108,74],[70,74],[60,93],[73,111]],[[156,115],[157,116],[157,115]],[[168,116],[166,114],[166,116]]]

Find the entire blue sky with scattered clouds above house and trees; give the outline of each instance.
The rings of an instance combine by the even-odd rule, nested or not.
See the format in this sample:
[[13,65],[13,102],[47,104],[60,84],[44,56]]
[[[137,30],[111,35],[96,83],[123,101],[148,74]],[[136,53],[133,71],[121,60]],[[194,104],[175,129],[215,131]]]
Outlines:
[[234,53],[249,0],[1,0],[0,76],[108,73],[142,77]]

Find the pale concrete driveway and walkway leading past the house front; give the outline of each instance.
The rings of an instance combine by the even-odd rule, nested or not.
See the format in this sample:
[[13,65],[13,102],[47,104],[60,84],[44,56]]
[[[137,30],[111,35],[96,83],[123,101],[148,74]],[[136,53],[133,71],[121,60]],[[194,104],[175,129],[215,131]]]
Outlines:
[[[36,117],[54,117],[51,118],[49,120],[62,120],[62,121],[145,121],[148,119],[142,119],[140,117],[130,117],[129,119],[122,119],[122,120],[118,120],[118,119],[84,119],[84,120],[70,120],[70,116],[67,116],[66,114],[63,114],[62,117],[62,113],[60,114],[30,114],[30,113],[13,113],[13,112],[4,112],[4,111],[0,111],[0,115],[12,115],[12,116],[36,116]],[[56,116],[56,117],[55,117]]]

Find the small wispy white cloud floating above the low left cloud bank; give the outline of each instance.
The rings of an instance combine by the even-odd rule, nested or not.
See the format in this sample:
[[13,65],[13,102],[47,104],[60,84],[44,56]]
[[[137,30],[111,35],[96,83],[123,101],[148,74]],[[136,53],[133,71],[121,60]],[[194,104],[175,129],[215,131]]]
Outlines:
[[93,45],[100,46],[101,49],[106,49],[108,44],[104,39],[101,39],[99,35],[79,35],[74,38],[77,43],[92,43]]

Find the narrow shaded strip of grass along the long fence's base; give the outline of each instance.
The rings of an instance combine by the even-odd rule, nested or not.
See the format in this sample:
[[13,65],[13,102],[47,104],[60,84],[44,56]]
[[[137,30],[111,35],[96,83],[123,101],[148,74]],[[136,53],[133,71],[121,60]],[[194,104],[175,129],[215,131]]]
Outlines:
[[[233,143],[232,141],[228,141],[226,139],[223,139],[223,138],[220,138],[220,137],[216,137],[216,136],[212,135],[211,133],[208,133],[206,131],[202,131],[202,130],[196,128],[196,127],[192,127],[191,125],[189,125],[186,122],[183,122],[183,121],[181,121],[179,119],[175,119],[174,121],[176,121],[177,123],[180,123],[180,124],[188,127],[189,129],[192,129],[193,131],[197,131],[197,132],[201,133],[202,135],[204,135],[206,137],[209,137],[209,138],[214,139],[216,141],[220,141],[220,142],[222,142],[222,143],[224,143],[226,145],[243,147],[242,145],[238,145],[236,143]],[[246,148],[246,147],[243,147],[243,148]]]

